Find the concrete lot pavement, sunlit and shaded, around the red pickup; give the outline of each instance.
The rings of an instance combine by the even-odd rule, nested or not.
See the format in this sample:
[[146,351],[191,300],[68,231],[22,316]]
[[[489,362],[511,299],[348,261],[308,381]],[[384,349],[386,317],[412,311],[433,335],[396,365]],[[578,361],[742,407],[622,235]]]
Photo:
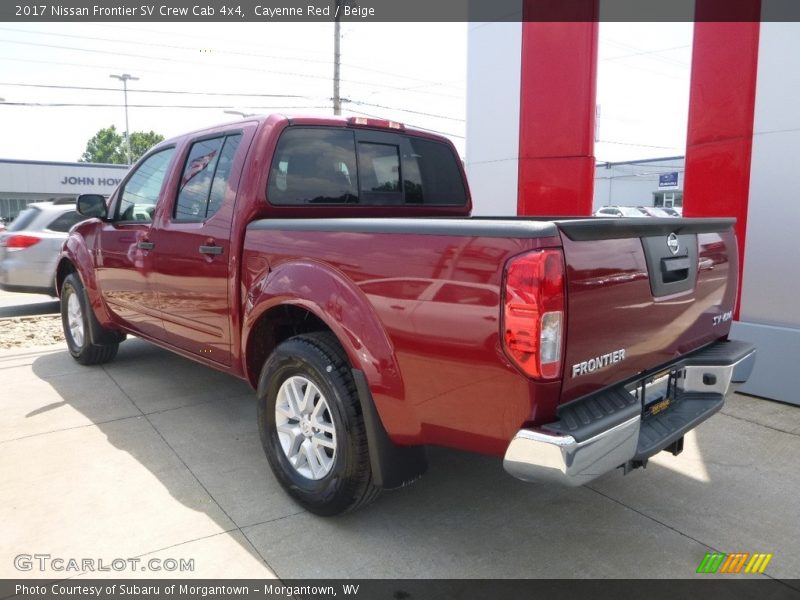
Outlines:
[[736,396],[646,470],[577,489],[496,458],[430,470],[353,514],[305,512],[269,472],[250,388],[137,339],[103,367],[63,346],[3,350],[0,577],[20,554],[193,559],[153,577],[696,577],[704,554],[769,552],[800,573],[800,409]]

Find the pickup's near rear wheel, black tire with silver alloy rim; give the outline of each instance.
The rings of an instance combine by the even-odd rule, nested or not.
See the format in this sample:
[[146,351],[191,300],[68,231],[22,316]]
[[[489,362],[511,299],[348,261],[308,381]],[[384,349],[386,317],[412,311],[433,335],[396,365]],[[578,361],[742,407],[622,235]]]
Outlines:
[[258,389],[264,452],[297,502],[330,516],[377,498],[361,404],[335,336],[311,333],[281,343]]

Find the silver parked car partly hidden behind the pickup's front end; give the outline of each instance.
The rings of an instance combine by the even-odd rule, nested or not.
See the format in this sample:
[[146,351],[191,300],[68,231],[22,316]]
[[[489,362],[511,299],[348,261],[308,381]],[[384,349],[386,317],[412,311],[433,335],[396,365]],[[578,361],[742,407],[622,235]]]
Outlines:
[[0,289],[56,295],[56,260],[70,228],[86,219],[75,201],[29,204],[0,233]]

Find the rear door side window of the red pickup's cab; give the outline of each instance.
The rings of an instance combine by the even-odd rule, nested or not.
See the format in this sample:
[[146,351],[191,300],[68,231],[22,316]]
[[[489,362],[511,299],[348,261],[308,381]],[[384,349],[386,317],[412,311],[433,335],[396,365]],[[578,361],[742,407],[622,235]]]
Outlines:
[[178,188],[175,220],[203,221],[219,210],[241,138],[236,134],[192,144]]

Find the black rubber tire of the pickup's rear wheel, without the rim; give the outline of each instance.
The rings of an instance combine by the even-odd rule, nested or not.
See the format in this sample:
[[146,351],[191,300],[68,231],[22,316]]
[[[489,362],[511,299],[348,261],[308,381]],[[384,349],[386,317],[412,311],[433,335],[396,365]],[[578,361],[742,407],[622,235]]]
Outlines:
[[[278,391],[287,379],[311,381],[325,398],[335,427],[330,471],[320,479],[299,473],[289,462],[276,428]],[[380,494],[372,482],[361,404],[347,357],[330,333],[310,333],[281,343],[261,371],[258,427],[272,472],[283,488],[310,512],[331,516],[366,506]]]

